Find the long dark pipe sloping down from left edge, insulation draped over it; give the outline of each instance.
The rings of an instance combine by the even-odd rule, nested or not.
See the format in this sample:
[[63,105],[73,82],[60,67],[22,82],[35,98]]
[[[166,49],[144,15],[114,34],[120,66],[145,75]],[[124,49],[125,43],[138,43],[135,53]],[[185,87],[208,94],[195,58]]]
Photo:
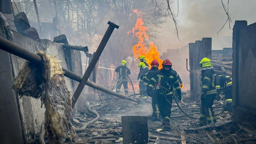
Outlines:
[[[0,37],[0,49],[2,49],[4,51],[7,51],[8,53],[14,54],[18,57],[21,57],[23,59],[26,59],[27,61],[30,61],[30,62],[39,63],[39,64],[42,63],[42,58],[39,55],[34,54],[31,51],[26,50],[23,47],[21,47],[19,45],[16,45],[15,43],[13,43],[11,41],[8,41],[7,39],[5,39],[3,37]],[[80,82],[82,80],[81,76],[73,73],[72,71],[69,71],[69,70],[64,69],[64,68],[62,68],[62,70],[65,72],[64,76],[66,76],[68,78],[71,78],[71,79],[73,79],[75,81],[78,81],[78,82]],[[133,102],[139,102],[137,99],[134,99],[134,98],[127,97],[125,95],[116,93],[114,91],[106,89],[105,87],[97,85],[96,83],[91,82],[91,81],[87,81],[86,85],[90,86],[90,87],[93,87],[94,89],[103,91],[105,93],[114,95],[114,96],[119,97],[119,98],[127,99],[127,100],[130,100],[130,101],[133,101]]]

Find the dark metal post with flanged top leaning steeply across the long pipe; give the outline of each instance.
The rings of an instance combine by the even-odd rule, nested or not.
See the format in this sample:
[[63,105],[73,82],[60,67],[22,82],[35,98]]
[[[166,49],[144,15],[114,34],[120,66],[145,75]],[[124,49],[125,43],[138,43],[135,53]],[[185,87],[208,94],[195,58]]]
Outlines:
[[93,55],[93,58],[91,59],[91,62],[89,64],[89,66],[87,67],[85,74],[83,75],[82,80],[80,81],[79,85],[77,86],[77,89],[75,90],[75,93],[73,95],[74,100],[72,101],[72,107],[74,107],[75,103],[77,102],[77,99],[79,98],[83,88],[85,87],[85,84],[87,83],[88,78],[91,75],[91,72],[93,71],[96,63],[99,60],[99,57],[101,56],[102,51],[104,50],[107,41],[109,40],[111,34],[113,33],[114,29],[117,28],[118,29],[118,25],[114,24],[113,22],[108,22],[107,24],[109,24],[109,27],[107,28],[106,33],[104,34],[101,43],[99,44],[95,54]]

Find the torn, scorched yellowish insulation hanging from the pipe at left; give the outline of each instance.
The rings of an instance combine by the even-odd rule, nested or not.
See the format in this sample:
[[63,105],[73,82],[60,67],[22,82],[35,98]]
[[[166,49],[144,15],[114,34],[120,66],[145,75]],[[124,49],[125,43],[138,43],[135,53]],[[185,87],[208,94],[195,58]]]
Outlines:
[[42,57],[42,65],[26,61],[18,76],[13,78],[13,89],[19,96],[41,99],[46,109],[45,131],[51,144],[58,143],[58,138],[71,141],[76,137],[71,123],[72,95],[64,80],[61,61],[43,51],[36,54]]

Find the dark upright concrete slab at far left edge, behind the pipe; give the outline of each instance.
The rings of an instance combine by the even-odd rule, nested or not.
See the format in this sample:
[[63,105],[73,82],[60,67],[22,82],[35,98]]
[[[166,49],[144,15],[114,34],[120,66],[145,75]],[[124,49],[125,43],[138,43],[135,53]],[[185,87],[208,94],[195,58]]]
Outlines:
[[[0,18],[0,36],[6,38]],[[24,143],[17,97],[12,87],[10,54],[0,50],[0,143]]]

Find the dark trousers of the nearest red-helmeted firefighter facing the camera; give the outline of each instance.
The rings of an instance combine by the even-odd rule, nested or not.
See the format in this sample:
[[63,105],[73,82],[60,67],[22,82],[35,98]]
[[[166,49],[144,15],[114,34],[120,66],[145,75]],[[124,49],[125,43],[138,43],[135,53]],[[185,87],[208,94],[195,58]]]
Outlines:
[[173,103],[173,93],[162,94],[157,93],[157,100],[160,108],[160,113],[163,118],[163,125],[170,125],[171,120],[171,105]]

